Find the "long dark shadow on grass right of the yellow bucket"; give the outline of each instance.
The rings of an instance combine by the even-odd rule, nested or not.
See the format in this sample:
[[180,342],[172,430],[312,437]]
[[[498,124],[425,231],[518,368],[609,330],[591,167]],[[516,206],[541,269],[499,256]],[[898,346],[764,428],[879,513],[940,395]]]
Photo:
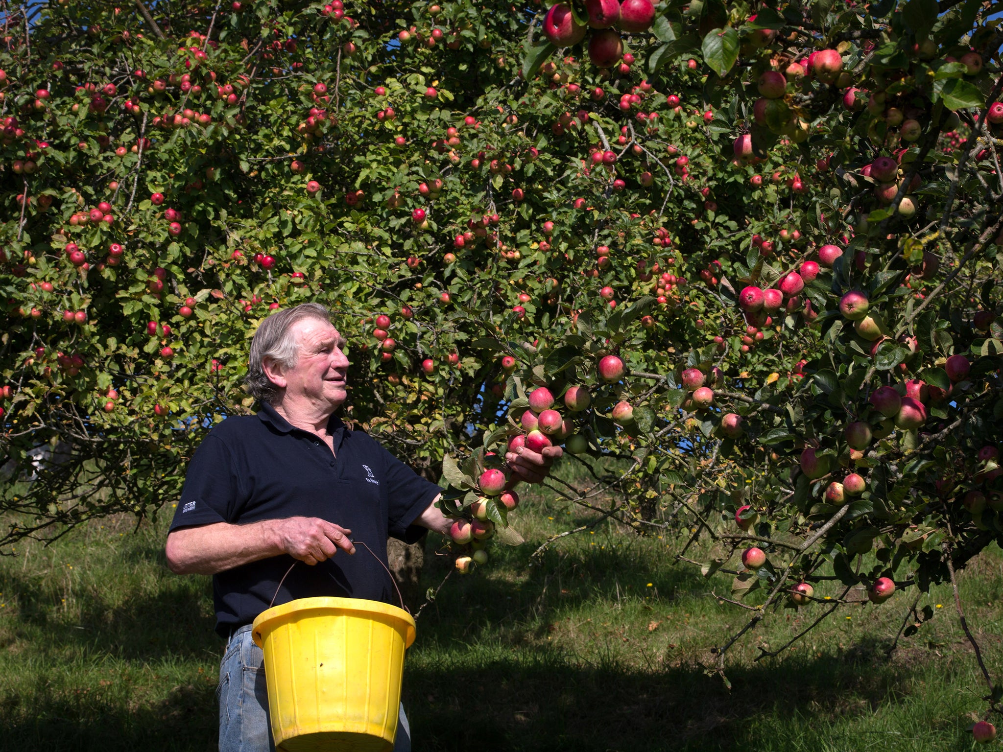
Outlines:
[[[511,661],[464,668],[412,665],[405,670],[404,702],[415,749],[850,752],[862,749],[862,740],[840,719],[868,717],[879,705],[902,700],[911,673],[878,658],[788,659],[730,669],[728,693],[697,666],[640,672],[524,651]],[[945,725],[937,746],[925,749],[971,748],[962,719]],[[881,749],[919,748],[899,746],[901,731],[887,733]]]

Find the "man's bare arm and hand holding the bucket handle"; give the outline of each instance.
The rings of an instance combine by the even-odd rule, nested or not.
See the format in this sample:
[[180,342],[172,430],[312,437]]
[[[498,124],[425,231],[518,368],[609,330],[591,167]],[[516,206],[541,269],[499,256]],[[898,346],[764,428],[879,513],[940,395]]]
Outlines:
[[350,533],[317,517],[182,527],[168,534],[168,567],[176,575],[216,575],[282,553],[313,566],[333,556],[338,548],[354,553]]

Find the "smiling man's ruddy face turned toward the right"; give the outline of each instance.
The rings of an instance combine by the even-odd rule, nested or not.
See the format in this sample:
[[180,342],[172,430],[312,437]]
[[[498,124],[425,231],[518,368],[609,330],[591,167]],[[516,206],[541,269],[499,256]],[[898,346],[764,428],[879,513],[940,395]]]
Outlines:
[[283,374],[285,398],[334,411],[348,397],[348,358],[341,351],[345,340],[331,324],[319,319],[301,319],[293,325],[292,334],[299,342],[300,358]]

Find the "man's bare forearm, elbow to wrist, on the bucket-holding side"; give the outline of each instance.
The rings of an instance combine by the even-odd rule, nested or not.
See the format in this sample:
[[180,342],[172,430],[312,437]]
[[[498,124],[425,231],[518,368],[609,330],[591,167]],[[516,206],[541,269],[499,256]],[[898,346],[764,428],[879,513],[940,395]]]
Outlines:
[[174,530],[168,535],[168,567],[177,575],[216,575],[277,556],[284,550],[275,532],[276,521],[215,522]]

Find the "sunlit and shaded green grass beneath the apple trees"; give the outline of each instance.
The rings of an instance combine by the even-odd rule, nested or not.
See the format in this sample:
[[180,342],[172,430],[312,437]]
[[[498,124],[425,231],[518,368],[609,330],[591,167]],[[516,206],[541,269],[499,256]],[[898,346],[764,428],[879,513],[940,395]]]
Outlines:
[[[921,599],[935,618],[891,658],[907,595],[841,609],[756,663],[758,645],[778,646],[818,612],[771,614],[729,654],[728,692],[702,664],[746,613],[673,566],[675,541],[601,523],[529,565],[547,534],[586,519],[554,494],[529,496],[527,543],[492,547],[487,567],[451,577],[424,610],[404,686],[417,752],[973,748],[985,685],[949,588]],[[127,518],[104,520],[0,560],[0,750],[216,749],[222,644],[209,580],[166,570],[166,522],[133,532]],[[435,587],[451,562],[427,550]],[[724,577],[712,585],[728,591]],[[969,566],[961,590],[998,675],[999,548]]]

